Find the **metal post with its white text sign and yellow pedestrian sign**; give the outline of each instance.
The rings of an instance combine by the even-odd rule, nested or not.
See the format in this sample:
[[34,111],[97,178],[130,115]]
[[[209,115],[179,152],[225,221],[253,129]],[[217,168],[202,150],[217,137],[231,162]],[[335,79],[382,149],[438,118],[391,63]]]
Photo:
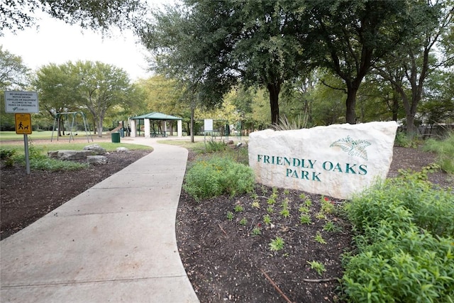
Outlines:
[[26,172],[30,175],[28,156],[28,135],[31,135],[31,113],[39,112],[37,92],[5,92],[5,112],[14,113],[16,133],[23,134],[23,146],[26,153]]

